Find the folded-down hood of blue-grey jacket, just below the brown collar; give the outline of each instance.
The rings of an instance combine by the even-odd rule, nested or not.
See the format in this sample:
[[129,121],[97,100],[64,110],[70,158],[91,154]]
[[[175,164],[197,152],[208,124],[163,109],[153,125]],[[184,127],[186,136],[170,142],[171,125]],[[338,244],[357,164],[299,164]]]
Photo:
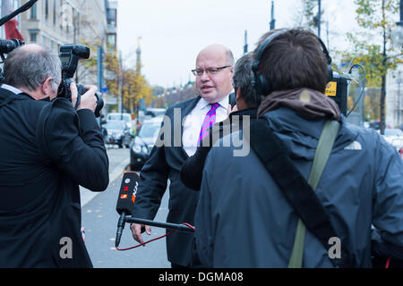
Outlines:
[[[313,160],[316,146],[321,137],[323,124],[328,118],[322,117],[317,120],[307,120],[290,108],[279,107],[264,114],[262,119],[279,136],[279,139],[285,144],[292,158]],[[347,123],[346,117],[341,115],[340,129],[332,152],[337,152],[347,147],[354,142],[357,136],[358,131],[356,128]]]

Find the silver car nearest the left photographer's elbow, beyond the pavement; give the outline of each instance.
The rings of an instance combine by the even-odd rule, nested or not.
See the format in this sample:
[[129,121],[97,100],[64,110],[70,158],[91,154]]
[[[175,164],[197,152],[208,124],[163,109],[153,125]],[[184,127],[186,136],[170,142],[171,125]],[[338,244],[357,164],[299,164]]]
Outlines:
[[116,144],[121,147],[129,147],[132,140],[130,129],[120,120],[107,120],[102,125],[104,141],[106,144]]

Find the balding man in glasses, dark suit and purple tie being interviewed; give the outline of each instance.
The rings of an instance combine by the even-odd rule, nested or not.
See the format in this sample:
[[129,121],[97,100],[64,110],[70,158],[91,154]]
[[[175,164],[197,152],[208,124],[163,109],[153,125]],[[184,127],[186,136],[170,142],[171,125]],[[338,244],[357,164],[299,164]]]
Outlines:
[[[180,169],[193,156],[210,126],[227,118],[233,65],[234,56],[225,46],[207,46],[197,56],[193,73],[199,96],[167,109],[159,139],[140,172],[134,217],[154,219],[169,179],[167,222],[193,223],[199,193],[184,186]],[[150,226],[133,223],[131,229],[134,240],[140,243],[142,231],[150,234]],[[176,231],[167,236],[167,259],[172,267],[198,266],[194,254],[193,233]]]

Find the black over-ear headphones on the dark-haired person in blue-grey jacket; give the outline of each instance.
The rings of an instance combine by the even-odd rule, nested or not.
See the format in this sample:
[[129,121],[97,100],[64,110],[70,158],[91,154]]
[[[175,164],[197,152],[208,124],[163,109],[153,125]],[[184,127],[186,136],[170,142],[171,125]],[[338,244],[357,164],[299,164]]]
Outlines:
[[[261,46],[259,46],[259,49],[256,51],[256,54],[254,55],[254,60],[252,64],[252,71],[254,75],[254,79],[252,80],[252,84],[254,88],[256,89],[256,92],[258,95],[262,96],[267,96],[270,94],[271,90],[271,85],[269,80],[266,80],[266,78],[262,74],[262,65],[261,65],[261,58],[264,53],[264,50],[266,49],[267,46],[269,46],[270,42],[278,37],[279,35],[282,35],[286,33],[289,29],[280,29],[279,31],[271,34],[268,38],[264,40]],[[322,39],[317,37],[319,43],[322,46],[322,51],[323,54],[326,57],[326,60],[328,62],[328,82],[333,78],[333,70],[331,69],[331,57],[329,55],[328,49],[326,46],[323,44]]]

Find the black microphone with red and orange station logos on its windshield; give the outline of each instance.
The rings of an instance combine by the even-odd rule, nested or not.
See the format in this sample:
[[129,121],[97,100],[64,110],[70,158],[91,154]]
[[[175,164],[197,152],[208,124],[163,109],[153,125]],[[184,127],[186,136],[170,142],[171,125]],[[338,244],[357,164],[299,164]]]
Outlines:
[[119,246],[122,237],[126,215],[130,215],[133,212],[139,181],[140,178],[136,172],[124,172],[116,204],[116,211],[120,214],[119,221],[117,222],[116,248]]

